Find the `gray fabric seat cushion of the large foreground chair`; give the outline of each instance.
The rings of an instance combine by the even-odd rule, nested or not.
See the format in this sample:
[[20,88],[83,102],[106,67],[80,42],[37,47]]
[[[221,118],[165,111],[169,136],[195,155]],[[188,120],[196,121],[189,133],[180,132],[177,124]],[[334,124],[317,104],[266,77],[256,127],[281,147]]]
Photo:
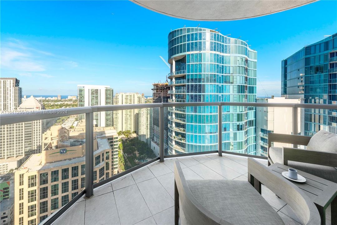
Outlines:
[[242,180],[187,180],[194,197],[232,224],[284,224],[268,202]]

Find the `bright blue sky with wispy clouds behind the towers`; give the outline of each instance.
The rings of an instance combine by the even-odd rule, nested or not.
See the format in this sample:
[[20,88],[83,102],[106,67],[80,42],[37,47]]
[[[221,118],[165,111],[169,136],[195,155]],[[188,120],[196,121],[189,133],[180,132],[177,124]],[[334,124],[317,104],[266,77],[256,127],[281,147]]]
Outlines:
[[[257,51],[257,76],[280,95],[281,60],[337,32],[337,1],[229,22],[167,17],[130,1],[1,1],[1,77],[24,94],[73,95],[78,84],[152,95],[168,67],[167,34],[186,26],[241,36]],[[225,13],[225,10],[224,10]],[[257,96],[265,96],[257,81]]]

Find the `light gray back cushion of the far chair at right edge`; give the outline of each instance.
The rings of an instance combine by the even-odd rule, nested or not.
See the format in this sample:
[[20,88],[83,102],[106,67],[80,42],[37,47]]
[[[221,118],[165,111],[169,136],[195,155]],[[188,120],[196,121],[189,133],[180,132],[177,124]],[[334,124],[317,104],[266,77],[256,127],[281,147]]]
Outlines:
[[337,134],[320,130],[310,138],[307,149],[337,153]]

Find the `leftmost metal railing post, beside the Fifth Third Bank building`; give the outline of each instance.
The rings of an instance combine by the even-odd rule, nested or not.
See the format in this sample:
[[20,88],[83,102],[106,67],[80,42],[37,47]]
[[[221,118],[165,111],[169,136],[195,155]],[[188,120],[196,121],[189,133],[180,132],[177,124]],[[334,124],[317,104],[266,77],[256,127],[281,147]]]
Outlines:
[[85,114],[85,197],[94,194],[94,113]]

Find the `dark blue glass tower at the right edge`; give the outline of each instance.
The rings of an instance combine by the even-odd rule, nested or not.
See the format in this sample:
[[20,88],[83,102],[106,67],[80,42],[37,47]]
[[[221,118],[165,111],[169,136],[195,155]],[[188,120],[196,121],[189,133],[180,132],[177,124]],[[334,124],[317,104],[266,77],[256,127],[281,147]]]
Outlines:
[[[282,60],[281,94],[305,103],[337,104],[337,33]],[[337,133],[336,110],[305,109],[304,135]]]

